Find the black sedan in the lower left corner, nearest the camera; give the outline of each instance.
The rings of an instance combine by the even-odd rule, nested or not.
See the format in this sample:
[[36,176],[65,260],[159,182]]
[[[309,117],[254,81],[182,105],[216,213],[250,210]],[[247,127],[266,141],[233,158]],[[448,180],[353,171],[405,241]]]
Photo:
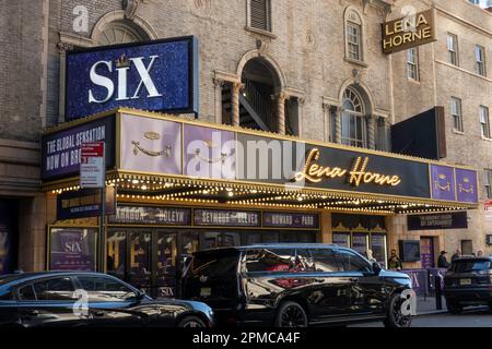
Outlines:
[[192,301],[155,301],[96,273],[0,276],[0,326],[211,327],[213,311]]

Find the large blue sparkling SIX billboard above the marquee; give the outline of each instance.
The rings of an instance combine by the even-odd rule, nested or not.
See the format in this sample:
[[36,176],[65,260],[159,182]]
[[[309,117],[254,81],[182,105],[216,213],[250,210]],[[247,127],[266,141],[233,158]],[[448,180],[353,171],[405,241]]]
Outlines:
[[118,107],[198,115],[198,41],[169,38],[67,53],[66,120]]

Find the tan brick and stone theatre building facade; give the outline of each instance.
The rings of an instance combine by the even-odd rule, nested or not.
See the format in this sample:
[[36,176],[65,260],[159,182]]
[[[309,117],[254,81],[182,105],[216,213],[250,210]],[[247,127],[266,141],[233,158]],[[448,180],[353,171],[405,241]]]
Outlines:
[[[492,108],[491,79],[473,73],[477,44],[485,48],[485,58],[492,56],[490,13],[465,0],[272,0],[266,1],[269,23],[259,29],[253,24],[251,1],[4,1],[0,195],[5,202],[14,198],[19,206],[16,225],[23,241],[19,267],[45,267],[46,225],[51,224],[45,207],[52,197],[39,192],[38,139],[44,129],[65,121],[63,63],[67,50],[73,48],[195,35],[200,43],[200,120],[241,123],[243,76],[256,60],[271,74],[278,118],[273,131],[294,130],[305,140],[355,142],[344,140],[341,121],[348,91],[363,106],[355,110],[364,120],[361,142],[382,151],[388,149],[390,124],[442,105],[447,118],[444,160],[492,168],[492,143],[480,136],[478,117],[480,105]],[[407,77],[406,52],[386,56],[380,48],[380,24],[401,17],[403,5],[418,11],[435,7],[438,17],[438,40],[419,48],[418,82]],[[349,22],[360,31],[355,59]],[[447,32],[459,38],[459,67],[447,63]],[[491,60],[485,64],[487,72],[492,72]],[[229,107],[224,95],[230,96]],[[450,127],[452,96],[462,100],[464,133]],[[286,116],[290,101],[295,110]],[[289,117],[292,120],[285,120]],[[483,202],[483,188],[480,193]],[[466,231],[408,232],[405,216],[388,219],[394,232],[390,248],[400,238],[430,236],[436,250],[454,250],[460,240],[472,240],[473,250],[487,250],[484,234],[492,233],[483,206],[470,213]]]

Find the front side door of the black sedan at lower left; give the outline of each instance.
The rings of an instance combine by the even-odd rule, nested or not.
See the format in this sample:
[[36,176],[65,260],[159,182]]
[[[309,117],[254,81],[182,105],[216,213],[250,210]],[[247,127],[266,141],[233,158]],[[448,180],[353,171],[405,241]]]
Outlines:
[[140,327],[147,325],[145,312],[133,309],[139,303],[134,289],[106,276],[78,276],[77,281],[87,301],[91,326]]

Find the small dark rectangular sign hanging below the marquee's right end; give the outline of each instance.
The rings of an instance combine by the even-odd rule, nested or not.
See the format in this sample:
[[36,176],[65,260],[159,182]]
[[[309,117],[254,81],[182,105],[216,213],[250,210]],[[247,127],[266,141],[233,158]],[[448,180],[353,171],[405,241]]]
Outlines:
[[407,216],[408,230],[468,229],[466,212]]

